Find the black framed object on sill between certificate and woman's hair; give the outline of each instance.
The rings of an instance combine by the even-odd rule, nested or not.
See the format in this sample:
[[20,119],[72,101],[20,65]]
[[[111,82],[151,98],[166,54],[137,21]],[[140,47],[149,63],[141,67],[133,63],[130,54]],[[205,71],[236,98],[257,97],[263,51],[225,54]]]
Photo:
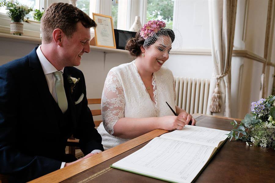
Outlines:
[[131,32],[127,30],[118,30],[114,29],[115,39],[116,39],[116,49],[125,50],[126,43],[128,39],[134,38],[136,36],[136,32]]

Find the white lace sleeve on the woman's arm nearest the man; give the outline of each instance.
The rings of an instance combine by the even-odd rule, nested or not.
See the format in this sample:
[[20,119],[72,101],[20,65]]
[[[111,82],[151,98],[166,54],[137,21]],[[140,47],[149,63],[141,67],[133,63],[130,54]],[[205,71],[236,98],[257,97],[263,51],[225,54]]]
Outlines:
[[124,117],[124,107],[123,87],[116,74],[110,71],[106,77],[101,98],[102,121],[110,135],[114,134],[117,120]]

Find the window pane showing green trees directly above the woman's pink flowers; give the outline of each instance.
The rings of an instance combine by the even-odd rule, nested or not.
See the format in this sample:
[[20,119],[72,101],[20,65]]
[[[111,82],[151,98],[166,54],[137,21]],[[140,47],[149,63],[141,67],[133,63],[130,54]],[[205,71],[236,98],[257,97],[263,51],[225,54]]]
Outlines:
[[163,20],[166,28],[173,28],[174,0],[147,0],[147,22]]

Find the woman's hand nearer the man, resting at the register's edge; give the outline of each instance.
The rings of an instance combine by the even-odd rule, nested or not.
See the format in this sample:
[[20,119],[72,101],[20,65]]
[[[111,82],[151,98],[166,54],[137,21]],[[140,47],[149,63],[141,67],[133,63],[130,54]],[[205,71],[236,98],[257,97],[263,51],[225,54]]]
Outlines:
[[182,130],[186,125],[186,120],[179,116],[163,116],[158,120],[158,128],[163,130]]

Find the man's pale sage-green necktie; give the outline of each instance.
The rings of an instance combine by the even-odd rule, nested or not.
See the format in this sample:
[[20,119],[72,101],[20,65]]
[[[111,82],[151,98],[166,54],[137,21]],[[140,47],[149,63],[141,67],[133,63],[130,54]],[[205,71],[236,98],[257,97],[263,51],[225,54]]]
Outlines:
[[55,92],[57,95],[57,101],[58,101],[57,103],[62,113],[64,114],[68,109],[68,103],[67,103],[67,98],[64,90],[62,73],[59,71],[56,71],[53,73],[53,75],[56,78]]

